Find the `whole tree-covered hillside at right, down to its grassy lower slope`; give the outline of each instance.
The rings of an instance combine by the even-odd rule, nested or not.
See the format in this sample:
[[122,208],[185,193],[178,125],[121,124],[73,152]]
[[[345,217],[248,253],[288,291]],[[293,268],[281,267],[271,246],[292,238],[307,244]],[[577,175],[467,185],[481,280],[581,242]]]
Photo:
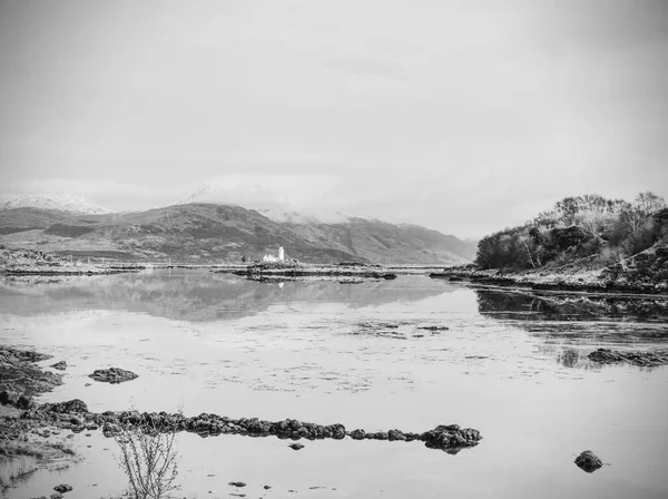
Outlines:
[[631,203],[597,194],[567,197],[553,209],[478,245],[479,271],[595,273],[621,284],[668,283],[668,208],[652,193]]

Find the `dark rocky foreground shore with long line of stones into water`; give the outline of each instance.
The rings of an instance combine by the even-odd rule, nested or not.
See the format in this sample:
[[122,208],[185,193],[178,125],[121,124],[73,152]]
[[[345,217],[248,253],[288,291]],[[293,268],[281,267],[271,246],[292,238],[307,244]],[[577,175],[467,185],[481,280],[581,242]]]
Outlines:
[[[289,440],[386,440],[421,441],[430,449],[439,449],[455,454],[462,449],[478,446],[482,437],[478,430],[460,428],[458,424],[442,424],[414,433],[391,429],[389,431],[346,430],[343,424],[317,424],[294,419],[265,421],[258,418],[233,419],[225,415],[202,413],[186,417],[180,413],[138,411],[107,411],[95,413],[87,404],[73,399],[58,403],[38,403],[36,395],[49,392],[62,384],[62,374],[45,371],[37,362],[51,359],[51,355],[30,350],[20,350],[0,345],[0,463],[9,463],[13,458],[31,457],[36,462],[30,469],[22,469],[21,476],[29,474],[42,467],[58,462],[60,468],[69,466],[78,458],[69,448],[63,434],[62,441],[53,442],[49,437],[62,432],[100,430],[105,437],[112,438],[124,430],[139,429],[160,432],[191,432],[200,437],[238,434],[247,437],[277,437]],[[109,371],[109,370],[107,370]],[[101,371],[100,371],[101,372]],[[100,372],[96,374],[100,378]],[[95,373],[94,373],[95,374]],[[104,373],[106,382],[117,382],[118,370],[112,379]],[[129,371],[125,378],[131,380]],[[30,437],[30,438],[29,438]],[[302,448],[302,444],[299,444]],[[9,476],[0,481],[0,489],[11,486],[19,476]]]

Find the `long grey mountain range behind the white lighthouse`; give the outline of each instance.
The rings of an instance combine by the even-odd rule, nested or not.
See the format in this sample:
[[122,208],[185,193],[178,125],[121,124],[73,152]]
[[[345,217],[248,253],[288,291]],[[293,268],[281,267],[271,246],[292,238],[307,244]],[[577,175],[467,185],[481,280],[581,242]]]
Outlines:
[[[293,221],[295,218],[292,218]],[[0,244],[79,256],[238,262],[285,248],[303,262],[444,264],[471,261],[471,244],[416,225],[345,216],[276,222],[254,209],[179,204],[126,214],[0,209]]]

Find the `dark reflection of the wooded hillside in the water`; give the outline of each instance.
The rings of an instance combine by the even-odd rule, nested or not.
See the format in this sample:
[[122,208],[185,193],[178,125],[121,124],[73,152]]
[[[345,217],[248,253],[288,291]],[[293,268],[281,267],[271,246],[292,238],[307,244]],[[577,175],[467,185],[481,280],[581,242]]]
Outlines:
[[539,351],[566,368],[591,368],[596,346],[648,349],[668,342],[668,300],[656,296],[541,294],[477,290],[481,314],[541,340]]

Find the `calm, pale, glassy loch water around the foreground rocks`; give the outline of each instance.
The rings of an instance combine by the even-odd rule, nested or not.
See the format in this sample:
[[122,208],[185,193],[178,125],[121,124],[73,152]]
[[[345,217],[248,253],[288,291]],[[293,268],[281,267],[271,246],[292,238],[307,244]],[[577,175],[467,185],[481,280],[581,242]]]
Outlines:
[[[216,412],[348,429],[479,429],[456,456],[420,442],[178,438],[180,497],[665,498],[668,369],[596,366],[598,346],[668,343],[665,307],[473,290],[423,276],[266,284],[204,272],[0,282],[0,341],[68,363],[43,401],[92,411]],[[448,326],[432,333],[422,326]],[[139,374],[90,382],[106,366]],[[65,438],[63,432],[58,438]],[[100,432],[68,440],[86,459],[38,471],[7,498],[118,495]],[[591,449],[605,466],[573,463]],[[244,489],[227,483],[242,480]],[[271,490],[264,490],[271,485]],[[291,492],[292,491],[292,492]]]

